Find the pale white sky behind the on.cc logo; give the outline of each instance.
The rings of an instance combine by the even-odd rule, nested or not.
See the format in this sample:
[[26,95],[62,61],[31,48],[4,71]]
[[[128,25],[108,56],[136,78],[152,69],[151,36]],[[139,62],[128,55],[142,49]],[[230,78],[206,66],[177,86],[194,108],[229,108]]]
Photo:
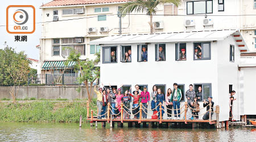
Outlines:
[[[16,52],[24,51],[31,59],[39,59],[39,49],[36,45],[40,44],[41,24],[35,25],[35,32],[33,34],[9,34],[6,31],[6,8],[9,5],[32,5],[35,7],[35,22],[42,22],[40,6],[43,3],[51,2],[52,0],[9,0],[1,1],[0,5],[0,49],[5,48],[5,41],[9,47],[15,49]],[[14,41],[16,35],[27,35],[27,42]]]

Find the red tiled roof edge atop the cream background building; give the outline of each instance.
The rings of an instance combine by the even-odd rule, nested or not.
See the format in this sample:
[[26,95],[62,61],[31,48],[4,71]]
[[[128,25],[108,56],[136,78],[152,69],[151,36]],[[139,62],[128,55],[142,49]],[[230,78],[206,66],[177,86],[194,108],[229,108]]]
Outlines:
[[89,5],[96,3],[113,3],[113,2],[127,2],[128,0],[53,0],[41,7],[46,6],[68,6],[68,5]]

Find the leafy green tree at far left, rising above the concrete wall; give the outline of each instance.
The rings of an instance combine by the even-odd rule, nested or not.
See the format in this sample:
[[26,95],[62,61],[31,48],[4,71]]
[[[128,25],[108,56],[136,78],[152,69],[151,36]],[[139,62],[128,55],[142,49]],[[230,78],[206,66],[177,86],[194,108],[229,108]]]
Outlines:
[[30,72],[30,61],[24,52],[16,53],[13,48],[5,42],[5,48],[0,49],[0,86],[12,86],[10,91],[15,103],[15,86],[27,84],[28,73]]

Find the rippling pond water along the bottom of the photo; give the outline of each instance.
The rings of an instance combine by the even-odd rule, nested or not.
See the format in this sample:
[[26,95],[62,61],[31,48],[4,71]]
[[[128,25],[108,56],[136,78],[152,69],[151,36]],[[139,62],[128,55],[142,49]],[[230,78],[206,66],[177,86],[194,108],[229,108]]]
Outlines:
[[89,123],[0,123],[0,141],[256,141],[255,128],[90,127]]

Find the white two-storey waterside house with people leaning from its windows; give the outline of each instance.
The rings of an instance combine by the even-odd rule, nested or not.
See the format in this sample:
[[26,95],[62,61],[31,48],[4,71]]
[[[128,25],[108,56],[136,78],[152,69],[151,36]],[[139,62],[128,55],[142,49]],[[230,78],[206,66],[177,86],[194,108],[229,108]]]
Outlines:
[[[203,88],[203,99],[213,97],[214,106],[220,106],[220,121],[229,120],[229,91],[237,90],[240,97],[238,64],[240,51],[236,40],[242,40],[237,30],[214,30],[197,32],[172,32],[168,34],[121,35],[108,36],[90,41],[100,44],[101,82],[111,82],[113,86],[148,86],[151,91],[157,85],[166,92],[178,83],[183,91],[181,106],[184,105],[184,93],[189,84],[197,90]],[[195,59],[197,45],[201,46],[201,59]],[[142,47],[147,49],[147,61],[141,60]],[[165,61],[159,60],[159,48],[165,52]],[[122,62],[122,56],[131,49],[131,62]],[[181,49],[185,49],[186,58],[180,60]],[[116,62],[110,60],[110,52],[117,53]],[[240,120],[238,107],[240,100],[234,104],[234,119]],[[202,107],[203,104],[200,103]],[[215,108],[214,108],[215,109]],[[202,110],[200,113],[205,112]],[[201,116],[202,117],[202,116]],[[183,118],[183,116],[181,116]],[[214,118],[214,116],[213,116]]]

